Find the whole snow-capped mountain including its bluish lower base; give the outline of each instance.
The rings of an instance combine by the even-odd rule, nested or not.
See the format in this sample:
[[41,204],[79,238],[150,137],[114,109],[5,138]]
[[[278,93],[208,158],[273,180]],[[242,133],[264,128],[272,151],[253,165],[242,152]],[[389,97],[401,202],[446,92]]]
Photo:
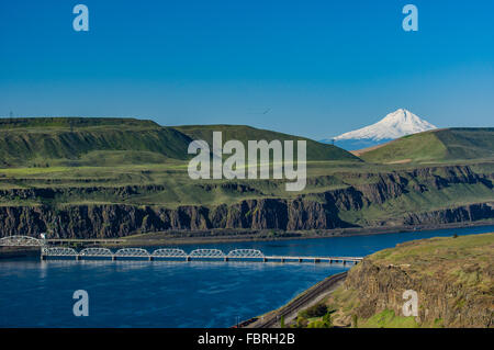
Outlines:
[[388,114],[375,124],[341,134],[333,139],[325,139],[324,142],[334,140],[337,146],[343,148],[359,149],[433,128],[436,128],[436,126],[405,109],[400,109]]

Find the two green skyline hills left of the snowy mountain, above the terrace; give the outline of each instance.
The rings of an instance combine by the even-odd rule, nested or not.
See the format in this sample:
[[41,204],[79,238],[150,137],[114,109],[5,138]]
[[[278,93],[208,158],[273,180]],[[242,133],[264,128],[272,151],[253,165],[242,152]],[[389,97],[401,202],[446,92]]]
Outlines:
[[360,161],[338,147],[249,126],[162,127],[153,121],[111,117],[0,120],[0,167],[119,166],[184,160],[192,139],[305,139],[307,160]]

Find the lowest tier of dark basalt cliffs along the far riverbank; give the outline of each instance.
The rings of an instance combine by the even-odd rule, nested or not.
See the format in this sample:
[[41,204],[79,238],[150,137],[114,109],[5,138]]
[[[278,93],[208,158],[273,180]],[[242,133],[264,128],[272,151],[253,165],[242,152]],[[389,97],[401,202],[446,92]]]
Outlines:
[[[494,217],[494,203],[409,214],[404,225],[472,222]],[[330,207],[311,201],[249,200],[232,206],[181,206],[168,210],[121,204],[0,206],[0,236],[37,236],[53,232],[61,238],[122,237],[135,232],[249,228],[308,230],[349,227]],[[397,221],[393,221],[396,225]]]

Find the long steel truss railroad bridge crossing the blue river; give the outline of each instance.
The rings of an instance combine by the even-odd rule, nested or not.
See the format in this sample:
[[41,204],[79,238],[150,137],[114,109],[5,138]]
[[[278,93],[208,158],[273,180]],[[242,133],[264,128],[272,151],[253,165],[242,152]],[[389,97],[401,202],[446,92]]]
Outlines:
[[[53,240],[50,240],[53,241]],[[234,249],[227,253],[220,249],[195,249],[186,252],[178,248],[159,248],[149,251],[144,248],[121,248],[112,251],[109,248],[91,247],[76,250],[69,247],[49,247],[44,239],[27,236],[10,236],[0,238],[3,247],[40,247],[41,259],[111,259],[111,260],[210,260],[210,261],[252,261],[252,262],[328,262],[358,263],[361,257],[316,257],[316,256],[266,256],[258,249]]]

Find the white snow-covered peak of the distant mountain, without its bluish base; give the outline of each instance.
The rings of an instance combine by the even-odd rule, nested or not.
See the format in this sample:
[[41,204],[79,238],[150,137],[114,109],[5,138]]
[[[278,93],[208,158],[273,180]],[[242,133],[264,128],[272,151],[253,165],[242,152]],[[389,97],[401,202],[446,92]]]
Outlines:
[[409,134],[422,133],[433,128],[436,128],[436,126],[429,122],[419,118],[405,109],[398,109],[393,113],[388,114],[375,124],[341,134],[334,139],[372,139],[379,142],[382,139],[394,139]]

